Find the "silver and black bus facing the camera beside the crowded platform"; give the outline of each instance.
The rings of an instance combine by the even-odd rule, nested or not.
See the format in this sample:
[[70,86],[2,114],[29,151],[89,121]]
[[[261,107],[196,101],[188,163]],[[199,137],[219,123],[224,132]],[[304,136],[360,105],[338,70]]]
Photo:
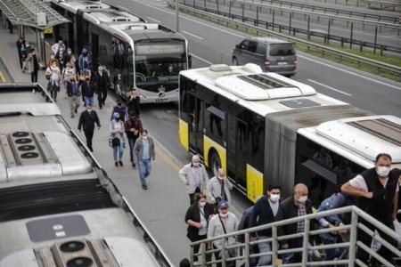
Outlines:
[[92,69],[105,66],[114,90],[123,98],[128,99],[134,87],[142,103],[178,101],[178,73],[189,66],[185,37],[110,4],[90,8],[101,4],[54,0],[53,8],[73,21],[55,27],[55,35],[68,36],[67,43],[76,43],[77,53],[88,49]]

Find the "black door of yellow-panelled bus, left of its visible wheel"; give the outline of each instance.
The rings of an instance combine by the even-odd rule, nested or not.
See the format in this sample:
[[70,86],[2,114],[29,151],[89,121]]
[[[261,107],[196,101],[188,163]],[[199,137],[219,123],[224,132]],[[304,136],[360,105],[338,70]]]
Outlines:
[[189,146],[192,152],[203,155],[203,101],[189,93]]

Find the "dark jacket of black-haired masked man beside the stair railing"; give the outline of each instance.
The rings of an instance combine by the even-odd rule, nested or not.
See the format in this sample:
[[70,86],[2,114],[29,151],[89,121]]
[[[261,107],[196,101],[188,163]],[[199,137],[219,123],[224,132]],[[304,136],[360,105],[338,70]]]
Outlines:
[[[279,206],[279,210],[280,210],[280,206]],[[278,211],[277,211],[277,214],[278,214]],[[273,214],[272,207],[270,206],[268,197],[263,196],[262,198],[259,198],[258,201],[255,203],[255,206],[253,207],[252,214],[250,215],[250,227],[265,225],[268,223],[274,223],[274,221],[275,221],[275,217]],[[255,233],[252,233],[252,235],[255,235]],[[258,231],[258,235],[271,237],[272,230],[266,229],[263,231]]]

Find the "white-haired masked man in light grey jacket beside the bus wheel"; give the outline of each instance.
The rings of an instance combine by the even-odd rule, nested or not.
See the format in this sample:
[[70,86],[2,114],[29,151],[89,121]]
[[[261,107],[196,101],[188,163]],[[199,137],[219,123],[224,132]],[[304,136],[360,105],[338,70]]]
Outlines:
[[190,198],[190,205],[192,205],[195,193],[203,193],[209,182],[205,166],[201,164],[201,158],[199,158],[198,155],[193,155],[192,162],[185,165],[179,171],[178,176],[186,185],[186,191]]

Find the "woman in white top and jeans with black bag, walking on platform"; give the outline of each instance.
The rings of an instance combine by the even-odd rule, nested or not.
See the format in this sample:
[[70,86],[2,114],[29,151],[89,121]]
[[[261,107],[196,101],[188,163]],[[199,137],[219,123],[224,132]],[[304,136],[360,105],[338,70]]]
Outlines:
[[110,122],[110,142],[113,148],[114,166],[123,166],[124,132],[124,122],[120,120],[119,112],[114,112],[113,119]]

